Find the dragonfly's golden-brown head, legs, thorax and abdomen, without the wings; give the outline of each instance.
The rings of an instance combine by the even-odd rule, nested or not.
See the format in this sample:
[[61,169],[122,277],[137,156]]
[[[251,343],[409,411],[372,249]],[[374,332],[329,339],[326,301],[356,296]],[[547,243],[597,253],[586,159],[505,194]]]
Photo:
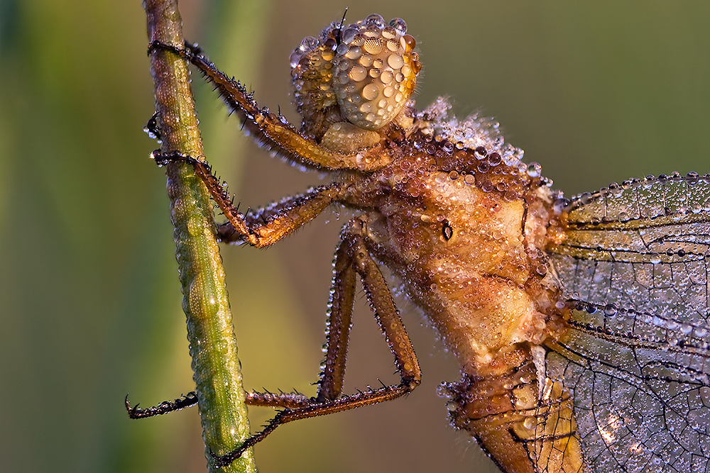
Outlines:
[[[216,452],[224,455],[218,463],[239,457],[281,423],[394,399],[420,383],[417,358],[379,269],[386,265],[459,361],[463,379],[442,386],[455,426],[468,430],[505,472],[596,471],[589,465],[606,462],[604,455],[616,455],[615,447],[599,454],[592,442],[606,439],[608,432],[601,423],[594,430],[587,422],[585,435],[592,446],[584,452],[597,456],[585,457],[579,410],[565,379],[550,376],[547,352],[553,347],[566,360],[576,360],[574,367],[591,366],[599,360],[583,360],[572,350],[576,339],[571,330],[609,339],[621,336],[611,328],[579,322],[579,314],[593,314],[596,306],[575,306],[571,297],[563,298],[549,256],[551,250],[572,258],[598,251],[613,260],[611,250],[603,248],[611,240],[602,238],[589,250],[580,249],[594,230],[584,219],[596,207],[584,205],[601,194],[589,196],[575,211],[550,190],[539,165],[521,161],[522,150],[503,140],[497,123],[478,116],[459,121],[449,116],[444,99],[416,111],[410,95],[421,65],[406,29],[399,18],[385,23],[371,15],[349,26],[332,23],[319,38],[305,38],[290,57],[300,130],[259,108],[241,84],[219,72],[197,48],[153,45],[153,50],[172,50],[197,66],[261,143],[286,160],[332,176],[330,184],[243,214],[231,205],[202,157],[155,155],[160,164],[185,160],[195,166],[227,218],[219,226],[222,241],[266,247],[332,204],[359,213],[344,226],[337,247],[327,355],[317,396],[249,394],[250,404],[283,410],[240,449]],[[690,186],[691,180],[685,183]],[[680,208],[674,211],[685,215]],[[579,221],[569,222],[570,215]],[[594,217],[593,224],[611,226],[604,218]],[[614,245],[621,247],[627,240]],[[343,395],[357,277],[401,382]],[[699,333],[693,327],[690,333]],[[693,353],[708,357],[706,347],[698,350]],[[569,366],[574,368],[572,362]],[[595,373],[601,376],[603,370]],[[575,382],[580,395],[589,395],[579,387],[583,382]],[[591,412],[585,408],[586,416]],[[697,445],[700,451],[701,442]],[[648,445],[632,447],[640,452]],[[626,459],[624,452],[616,458]]]

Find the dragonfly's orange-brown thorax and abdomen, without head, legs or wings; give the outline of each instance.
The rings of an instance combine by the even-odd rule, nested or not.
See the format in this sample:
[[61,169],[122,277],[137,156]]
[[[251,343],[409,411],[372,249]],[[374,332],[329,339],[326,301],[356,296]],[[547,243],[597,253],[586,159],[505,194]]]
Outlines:
[[[485,122],[463,127],[452,131],[478,140],[486,134]],[[344,203],[368,210],[357,221],[368,249],[398,275],[459,360],[464,380],[443,390],[454,425],[505,471],[534,472],[534,462],[581,471],[572,401],[559,383],[541,393],[545,369],[533,361],[551,336],[547,323],[554,319],[559,330],[564,308],[545,252],[547,228],[560,217],[555,196],[534,166],[528,174],[518,150],[471,149],[419,129],[408,138],[393,144],[401,155],[390,165],[352,179]],[[548,427],[536,433],[538,421]]]

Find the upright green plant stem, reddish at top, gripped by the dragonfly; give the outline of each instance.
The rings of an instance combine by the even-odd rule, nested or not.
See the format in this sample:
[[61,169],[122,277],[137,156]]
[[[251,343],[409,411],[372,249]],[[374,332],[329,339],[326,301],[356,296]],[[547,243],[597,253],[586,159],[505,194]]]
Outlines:
[[[144,8],[149,42],[182,48],[177,1],[146,0]],[[163,138],[161,151],[202,157],[187,63],[172,52],[157,49],[151,53],[151,72]],[[212,472],[216,469],[209,461],[210,451],[224,455],[249,437],[244,388],[209,194],[190,165],[168,165],[166,174],[184,296],[182,309],[187,316],[205,454]],[[253,452],[245,452],[219,471],[256,472]]]

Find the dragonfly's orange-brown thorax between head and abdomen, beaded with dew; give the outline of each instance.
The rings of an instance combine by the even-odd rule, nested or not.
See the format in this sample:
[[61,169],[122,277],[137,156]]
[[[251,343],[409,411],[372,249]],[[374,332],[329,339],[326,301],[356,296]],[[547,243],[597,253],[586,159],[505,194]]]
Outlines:
[[476,374],[501,350],[545,337],[558,294],[543,251],[551,193],[498,153],[420,132],[409,143],[419,140],[355,179],[351,204],[376,208],[366,216],[372,251]]

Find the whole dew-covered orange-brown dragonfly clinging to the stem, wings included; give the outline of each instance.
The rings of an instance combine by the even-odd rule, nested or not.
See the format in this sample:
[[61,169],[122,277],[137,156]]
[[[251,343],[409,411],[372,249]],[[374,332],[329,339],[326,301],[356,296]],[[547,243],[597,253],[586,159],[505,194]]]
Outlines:
[[[565,199],[497,123],[459,120],[445,99],[414,108],[415,46],[403,20],[378,15],[305,38],[290,57],[300,128],[259,107],[199,48],[174,50],[261,143],[333,176],[241,213],[206,163],[155,155],[195,167],[227,218],[219,238],[268,246],[329,206],[359,213],[337,247],[317,396],[249,394],[282,410],[244,447],[282,423],[419,384],[384,266],[461,365],[462,379],[441,389],[452,425],[501,470],[709,471],[710,177],[630,179]],[[344,395],[356,279],[400,383]]]

